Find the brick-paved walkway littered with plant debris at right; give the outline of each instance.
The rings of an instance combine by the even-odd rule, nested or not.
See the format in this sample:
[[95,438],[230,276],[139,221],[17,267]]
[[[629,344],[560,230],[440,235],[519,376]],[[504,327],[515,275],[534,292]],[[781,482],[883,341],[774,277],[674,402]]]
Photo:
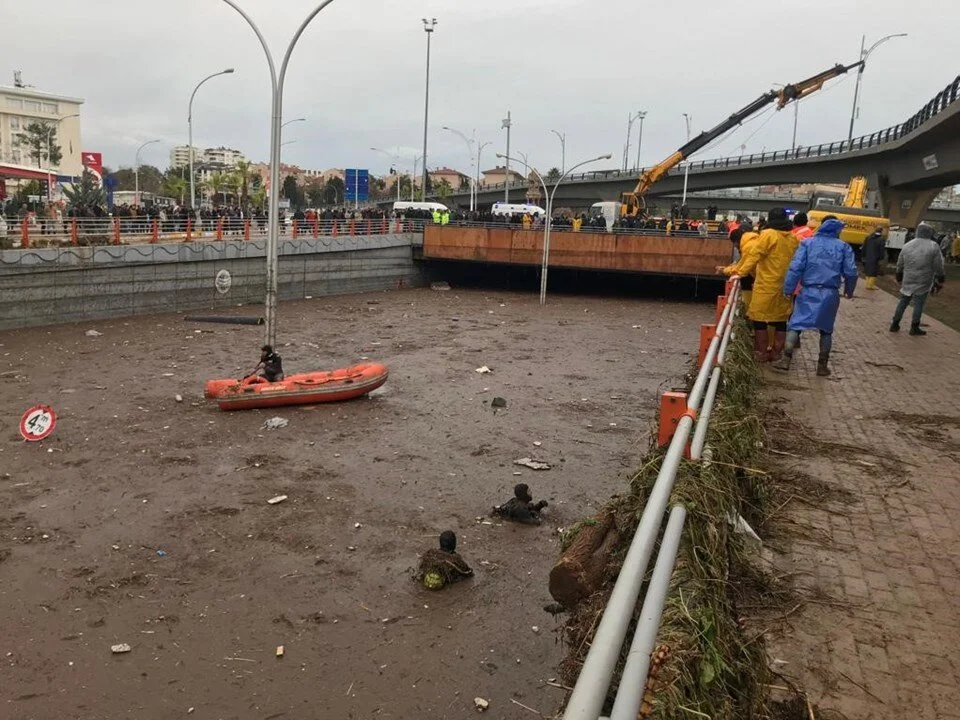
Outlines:
[[894,304],[843,301],[832,377],[815,376],[816,333],[789,375],[764,371],[812,438],[781,438],[804,458],[777,461],[834,490],[788,502],[766,543],[816,598],[768,643],[818,720],[960,718],[960,334],[932,319],[926,337],[891,334]]

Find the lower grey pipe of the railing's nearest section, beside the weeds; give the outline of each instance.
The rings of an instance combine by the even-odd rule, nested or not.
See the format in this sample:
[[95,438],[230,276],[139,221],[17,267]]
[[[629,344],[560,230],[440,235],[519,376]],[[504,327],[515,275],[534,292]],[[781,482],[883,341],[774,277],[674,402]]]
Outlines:
[[650,585],[647,587],[647,595],[643,599],[637,629],[633,634],[627,662],[620,676],[620,687],[613,701],[610,720],[635,720],[640,710],[643,693],[646,690],[647,675],[650,673],[651,655],[657,641],[657,631],[660,629],[667,592],[670,590],[670,576],[673,575],[673,566],[677,561],[680,535],[686,519],[687,511],[683,506],[676,505],[670,511],[670,520],[667,522],[667,529],[663,531],[663,540],[660,542],[657,564],[653,569]]

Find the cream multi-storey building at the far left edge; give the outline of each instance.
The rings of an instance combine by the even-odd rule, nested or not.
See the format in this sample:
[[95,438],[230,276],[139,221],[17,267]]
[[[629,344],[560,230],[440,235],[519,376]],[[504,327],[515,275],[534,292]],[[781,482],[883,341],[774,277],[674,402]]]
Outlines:
[[40,165],[61,175],[81,175],[80,106],[83,100],[24,87],[19,74],[14,76],[13,87],[0,86],[0,162],[37,165],[36,157],[31,156],[29,148],[21,146],[18,136],[28,125],[39,122],[52,128],[51,143],[59,145],[61,152],[60,163],[48,167],[44,150]]

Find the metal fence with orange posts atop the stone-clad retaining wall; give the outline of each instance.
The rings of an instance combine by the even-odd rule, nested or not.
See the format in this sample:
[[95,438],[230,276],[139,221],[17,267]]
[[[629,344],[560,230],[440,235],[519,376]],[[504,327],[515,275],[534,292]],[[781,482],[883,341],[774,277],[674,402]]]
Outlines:
[[[287,238],[339,235],[387,235],[422,232],[422,220],[359,218],[349,220],[293,220],[281,227]],[[258,218],[20,218],[7,223],[7,238],[21,248],[62,245],[134,245],[204,240],[258,240],[266,237],[267,223]]]

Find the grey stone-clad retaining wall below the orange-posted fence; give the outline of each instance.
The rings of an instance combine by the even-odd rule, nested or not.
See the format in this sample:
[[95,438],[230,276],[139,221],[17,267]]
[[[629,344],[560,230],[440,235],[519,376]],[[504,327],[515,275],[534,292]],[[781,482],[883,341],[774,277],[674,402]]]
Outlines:
[[[417,286],[419,235],[280,243],[280,299]],[[230,274],[221,293],[216,278]],[[0,330],[95,318],[262,304],[266,241],[0,252]]]

